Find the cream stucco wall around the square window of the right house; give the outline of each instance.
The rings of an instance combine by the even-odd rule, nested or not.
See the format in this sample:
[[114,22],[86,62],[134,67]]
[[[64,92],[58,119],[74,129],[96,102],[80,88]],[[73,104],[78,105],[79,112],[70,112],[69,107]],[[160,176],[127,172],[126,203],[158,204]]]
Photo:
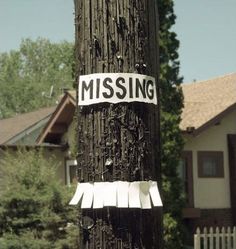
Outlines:
[[[219,125],[197,137],[185,136],[184,150],[193,153],[194,206],[196,208],[230,208],[229,163],[227,134],[236,133],[236,111],[221,120]],[[224,178],[199,178],[197,151],[224,152]]]

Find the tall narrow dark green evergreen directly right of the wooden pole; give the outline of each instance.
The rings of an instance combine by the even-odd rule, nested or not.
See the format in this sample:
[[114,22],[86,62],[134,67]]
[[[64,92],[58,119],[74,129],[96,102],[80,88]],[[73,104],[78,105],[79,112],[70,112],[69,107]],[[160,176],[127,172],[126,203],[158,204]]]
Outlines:
[[183,248],[182,208],[184,196],[177,167],[183,150],[183,138],[179,129],[183,94],[179,77],[173,0],[158,0],[160,19],[160,90],[161,90],[161,141],[162,188],[164,200],[164,248]]

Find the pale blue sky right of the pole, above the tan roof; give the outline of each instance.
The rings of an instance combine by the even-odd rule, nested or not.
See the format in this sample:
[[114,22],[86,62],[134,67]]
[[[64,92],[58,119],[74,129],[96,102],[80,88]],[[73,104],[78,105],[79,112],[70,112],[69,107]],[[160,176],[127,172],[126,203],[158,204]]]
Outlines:
[[236,0],[174,0],[184,82],[236,72]]

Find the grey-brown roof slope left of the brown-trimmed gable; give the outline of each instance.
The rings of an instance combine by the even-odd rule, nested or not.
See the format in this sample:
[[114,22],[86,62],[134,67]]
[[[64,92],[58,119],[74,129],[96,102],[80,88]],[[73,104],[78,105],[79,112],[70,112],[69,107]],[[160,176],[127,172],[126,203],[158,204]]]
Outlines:
[[34,112],[18,114],[12,118],[0,120],[0,144],[7,143],[11,138],[51,115],[54,110],[55,106],[42,108]]

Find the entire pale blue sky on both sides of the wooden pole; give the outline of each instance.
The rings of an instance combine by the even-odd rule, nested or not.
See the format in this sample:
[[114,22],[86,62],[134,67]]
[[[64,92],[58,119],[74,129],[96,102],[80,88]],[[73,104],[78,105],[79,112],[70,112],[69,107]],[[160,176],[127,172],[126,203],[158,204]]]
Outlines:
[[[236,72],[236,0],[174,0],[184,82]],[[0,52],[23,38],[74,41],[73,0],[0,0]]]

